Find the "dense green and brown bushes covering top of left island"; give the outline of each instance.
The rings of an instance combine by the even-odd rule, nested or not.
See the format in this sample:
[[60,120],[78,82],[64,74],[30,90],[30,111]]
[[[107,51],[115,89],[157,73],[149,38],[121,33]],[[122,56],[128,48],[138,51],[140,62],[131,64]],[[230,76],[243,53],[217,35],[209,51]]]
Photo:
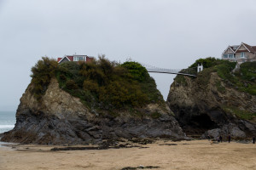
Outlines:
[[94,109],[165,103],[154,79],[136,62],[120,65],[102,56],[91,63],[66,62],[58,65],[54,59],[43,58],[32,67],[31,77],[33,94],[37,99],[44,95],[50,79],[56,77],[61,89]]

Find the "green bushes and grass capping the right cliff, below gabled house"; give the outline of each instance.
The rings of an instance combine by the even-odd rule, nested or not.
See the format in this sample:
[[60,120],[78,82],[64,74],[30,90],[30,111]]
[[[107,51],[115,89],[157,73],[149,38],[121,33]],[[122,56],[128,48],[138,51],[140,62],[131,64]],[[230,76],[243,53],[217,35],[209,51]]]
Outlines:
[[[246,62],[240,65],[240,70],[232,72],[236,67],[236,62],[230,62],[223,59],[215,59],[209,57],[207,59],[197,59],[189,68],[195,67],[198,64],[204,65],[204,70],[198,74],[198,77],[193,78],[198,82],[201,88],[206,88],[209,83],[211,73],[217,72],[218,77],[222,78],[225,86],[236,88],[241,92],[256,95],[256,62]],[[175,78],[177,83],[187,85],[183,76]],[[220,82],[216,82],[218,91],[225,92],[224,86]]]

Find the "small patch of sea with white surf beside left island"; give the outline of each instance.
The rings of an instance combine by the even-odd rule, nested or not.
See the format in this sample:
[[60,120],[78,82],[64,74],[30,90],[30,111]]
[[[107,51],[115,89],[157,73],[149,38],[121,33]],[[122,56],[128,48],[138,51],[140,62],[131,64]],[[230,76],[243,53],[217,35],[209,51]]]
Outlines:
[[7,132],[15,127],[15,111],[0,111],[0,133]]

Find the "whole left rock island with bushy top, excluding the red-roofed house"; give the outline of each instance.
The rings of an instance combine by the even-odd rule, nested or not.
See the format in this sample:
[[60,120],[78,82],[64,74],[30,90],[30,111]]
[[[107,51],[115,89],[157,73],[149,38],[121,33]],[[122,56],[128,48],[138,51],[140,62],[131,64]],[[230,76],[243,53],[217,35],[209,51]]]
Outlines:
[[148,71],[104,57],[90,63],[43,58],[20,99],[15,128],[2,141],[97,144],[118,138],[184,139]]

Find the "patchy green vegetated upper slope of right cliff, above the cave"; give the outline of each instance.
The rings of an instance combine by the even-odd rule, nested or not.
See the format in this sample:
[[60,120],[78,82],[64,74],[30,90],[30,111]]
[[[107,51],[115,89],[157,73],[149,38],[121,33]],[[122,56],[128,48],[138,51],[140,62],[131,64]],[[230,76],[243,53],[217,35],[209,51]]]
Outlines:
[[[197,59],[189,67],[193,68],[201,63],[204,70],[199,72],[197,77],[177,76],[175,85],[195,88],[195,91],[201,92],[202,96],[208,96],[208,98],[216,97],[215,101],[219,104],[215,102],[214,105],[218,105],[224,112],[255,122],[256,113],[252,107],[250,106],[250,109],[247,110],[244,105],[241,106],[239,103],[242,99],[241,96],[246,96],[245,100],[248,101],[250,98],[253,99],[253,95],[256,95],[256,62],[245,62],[240,65],[240,69],[235,69],[236,62],[210,57]],[[193,87],[188,87],[191,85]],[[237,93],[234,93],[234,90]],[[237,101],[237,99],[240,100]]]

